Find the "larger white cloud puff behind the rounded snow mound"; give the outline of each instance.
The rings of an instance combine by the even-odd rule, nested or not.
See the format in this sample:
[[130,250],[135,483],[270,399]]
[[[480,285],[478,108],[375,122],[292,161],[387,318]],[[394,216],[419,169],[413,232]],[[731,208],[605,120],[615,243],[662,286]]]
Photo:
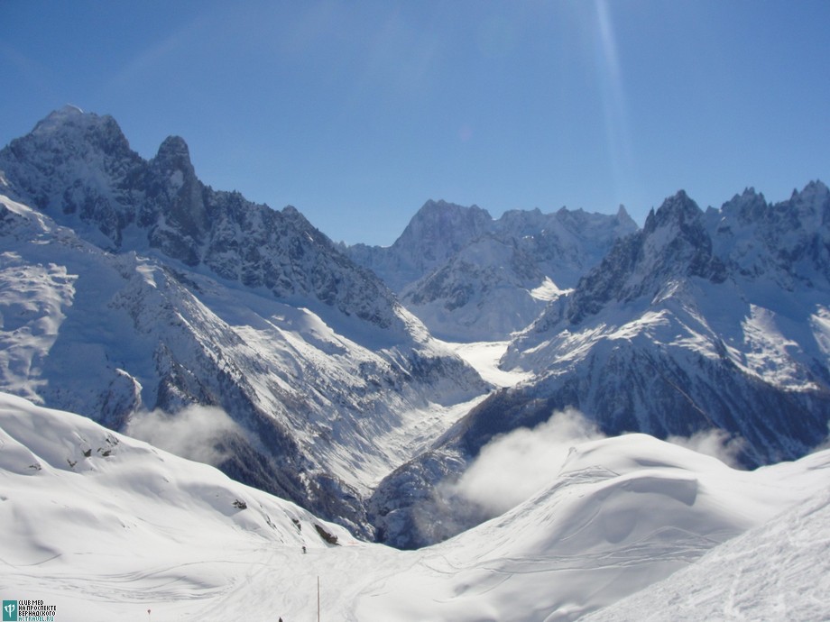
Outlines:
[[578,410],[555,412],[532,429],[522,427],[495,437],[452,492],[491,516],[502,514],[553,482],[571,447],[600,438],[604,434]]

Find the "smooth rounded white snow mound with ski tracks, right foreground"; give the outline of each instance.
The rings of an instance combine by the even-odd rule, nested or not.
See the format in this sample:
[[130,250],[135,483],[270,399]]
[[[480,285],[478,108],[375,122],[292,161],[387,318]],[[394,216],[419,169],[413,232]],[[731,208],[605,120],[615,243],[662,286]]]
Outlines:
[[819,494],[828,466],[821,453],[733,471],[643,434],[578,445],[549,488],[423,549],[361,605],[401,620],[574,620]]

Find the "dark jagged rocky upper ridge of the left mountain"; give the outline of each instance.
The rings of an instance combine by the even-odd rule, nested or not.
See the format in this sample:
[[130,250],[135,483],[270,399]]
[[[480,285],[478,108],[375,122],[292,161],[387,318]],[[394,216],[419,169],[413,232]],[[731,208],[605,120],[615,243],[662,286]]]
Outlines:
[[5,194],[107,251],[149,250],[284,300],[318,301],[397,338],[392,294],[289,206],[254,205],[203,185],[171,136],[149,161],[115,120],[67,106],[0,151]]

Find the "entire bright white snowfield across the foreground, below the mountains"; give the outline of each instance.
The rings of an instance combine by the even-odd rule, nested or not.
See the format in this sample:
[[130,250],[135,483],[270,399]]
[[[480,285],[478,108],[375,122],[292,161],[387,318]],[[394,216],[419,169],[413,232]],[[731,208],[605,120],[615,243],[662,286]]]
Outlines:
[[826,619],[828,476],[830,451],[735,471],[624,435],[576,446],[503,516],[403,552],[0,394],[0,593],[60,622],[312,620],[318,581],[327,620],[573,620],[637,592],[597,619]]

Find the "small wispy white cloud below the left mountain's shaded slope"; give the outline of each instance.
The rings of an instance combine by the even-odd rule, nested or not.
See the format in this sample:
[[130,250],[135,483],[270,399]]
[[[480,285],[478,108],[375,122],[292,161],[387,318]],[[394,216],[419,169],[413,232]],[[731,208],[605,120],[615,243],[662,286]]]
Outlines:
[[242,428],[218,407],[193,405],[173,415],[161,410],[136,413],[126,433],[182,458],[216,466],[226,458],[217,443]]

